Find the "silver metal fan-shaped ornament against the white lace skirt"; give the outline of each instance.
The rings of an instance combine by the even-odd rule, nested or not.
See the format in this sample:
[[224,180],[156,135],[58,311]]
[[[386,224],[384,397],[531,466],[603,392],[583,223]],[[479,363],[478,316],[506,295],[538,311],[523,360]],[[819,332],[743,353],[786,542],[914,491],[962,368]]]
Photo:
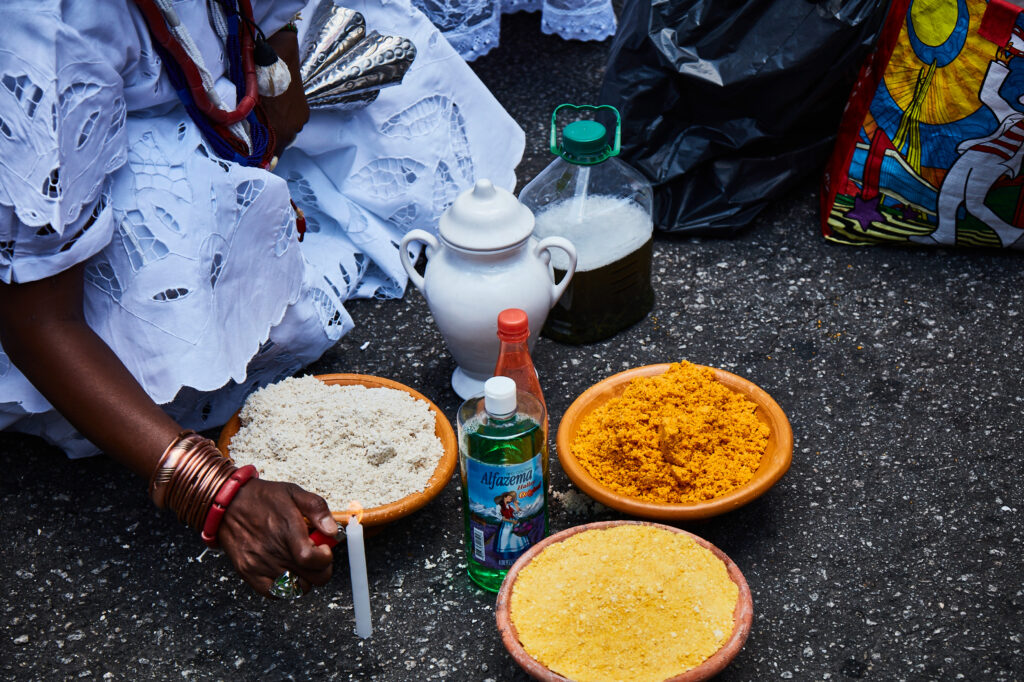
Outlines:
[[302,39],[299,75],[311,109],[366,106],[416,58],[413,41],[367,32],[362,14],[322,0]]

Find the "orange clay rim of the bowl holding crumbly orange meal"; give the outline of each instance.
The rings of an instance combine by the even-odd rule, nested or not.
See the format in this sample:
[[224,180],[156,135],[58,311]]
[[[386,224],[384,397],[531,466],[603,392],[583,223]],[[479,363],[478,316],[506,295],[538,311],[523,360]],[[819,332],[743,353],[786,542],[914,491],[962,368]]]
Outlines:
[[768,393],[746,379],[725,370],[710,368],[718,381],[757,403],[755,415],[770,429],[761,467],[745,484],[721,497],[694,504],[647,502],[606,487],[591,476],[572,456],[572,441],[575,439],[577,430],[591,412],[621,395],[633,379],[664,374],[670,367],[672,367],[670,364],[663,364],[634,368],[612,375],[584,391],[569,406],[558,425],[556,443],[558,461],[562,469],[580,489],[601,504],[632,516],[662,521],[690,521],[716,516],[741,507],[764,495],[790,468],[793,459],[793,429],[785,413]]

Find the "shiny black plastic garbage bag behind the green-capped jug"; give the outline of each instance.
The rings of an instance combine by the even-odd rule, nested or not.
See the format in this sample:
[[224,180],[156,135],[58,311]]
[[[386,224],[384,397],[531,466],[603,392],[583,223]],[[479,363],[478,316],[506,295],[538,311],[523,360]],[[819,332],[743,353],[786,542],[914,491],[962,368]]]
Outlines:
[[654,224],[731,235],[820,173],[884,0],[625,0],[601,102]]

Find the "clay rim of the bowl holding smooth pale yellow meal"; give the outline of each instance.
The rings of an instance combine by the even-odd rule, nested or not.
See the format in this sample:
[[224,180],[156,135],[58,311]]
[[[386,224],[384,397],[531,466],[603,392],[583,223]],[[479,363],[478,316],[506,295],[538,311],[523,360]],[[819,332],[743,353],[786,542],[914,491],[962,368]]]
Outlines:
[[520,556],[514,564],[512,564],[512,567],[509,568],[509,572],[505,576],[505,580],[502,582],[501,590],[498,592],[498,604],[496,607],[498,632],[501,634],[502,643],[505,644],[505,648],[508,649],[508,652],[534,679],[543,680],[545,682],[556,682],[565,681],[568,678],[562,677],[558,673],[555,673],[547,668],[541,662],[534,658],[534,656],[526,652],[526,649],[523,648],[522,644],[519,643],[519,635],[516,632],[515,625],[512,623],[512,616],[510,613],[512,591],[515,589],[515,581],[519,576],[519,571],[525,568],[534,557],[543,552],[545,548],[555,543],[559,543],[566,538],[570,538],[578,532],[599,530],[602,528],[626,524],[650,525],[655,528],[662,528],[672,532],[681,532],[685,536],[689,536],[698,545],[708,549],[715,556],[721,559],[722,563],[725,564],[726,569],[729,571],[729,578],[736,584],[736,587],[739,588],[739,594],[736,598],[736,607],[732,611],[732,634],[729,636],[729,639],[725,641],[725,644],[723,644],[718,651],[705,659],[705,662],[699,666],[671,677],[666,680],[666,682],[699,682],[700,680],[710,679],[722,672],[722,670],[736,657],[739,650],[743,648],[743,643],[746,641],[746,636],[751,633],[751,624],[754,620],[754,599],[751,597],[751,588],[746,585],[746,579],[744,579],[742,572],[740,572],[739,566],[737,566],[732,559],[726,556],[722,550],[718,549],[703,538],[699,538],[691,532],[687,532],[686,530],[681,530],[670,525],[650,523],[648,521],[598,521],[595,523],[586,523],[584,525],[566,528],[561,532],[556,532],[553,536],[545,538],[540,543],[526,550],[523,555]]

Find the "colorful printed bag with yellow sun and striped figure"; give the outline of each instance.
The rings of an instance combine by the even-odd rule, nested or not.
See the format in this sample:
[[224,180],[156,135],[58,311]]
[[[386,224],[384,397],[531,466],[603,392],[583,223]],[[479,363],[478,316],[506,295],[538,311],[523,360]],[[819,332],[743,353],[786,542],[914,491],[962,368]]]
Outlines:
[[1022,11],[893,0],[825,171],[826,239],[1024,249]]

